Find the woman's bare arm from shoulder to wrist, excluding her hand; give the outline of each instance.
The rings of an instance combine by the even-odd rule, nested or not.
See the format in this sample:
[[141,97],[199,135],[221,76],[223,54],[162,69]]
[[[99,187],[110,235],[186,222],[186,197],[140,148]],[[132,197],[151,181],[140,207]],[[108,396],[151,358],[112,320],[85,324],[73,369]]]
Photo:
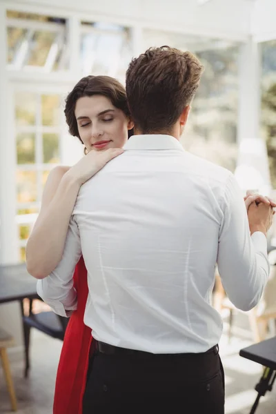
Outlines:
[[54,168],[43,192],[41,210],[26,248],[26,264],[37,279],[48,276],[61,260],[80,185],[68,167]]

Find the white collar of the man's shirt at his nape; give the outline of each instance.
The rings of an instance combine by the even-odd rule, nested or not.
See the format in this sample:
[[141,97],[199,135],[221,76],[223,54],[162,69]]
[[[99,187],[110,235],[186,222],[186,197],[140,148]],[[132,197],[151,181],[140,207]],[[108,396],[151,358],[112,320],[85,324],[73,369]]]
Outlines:
[[124,145],[124,150],[180,150],[180,142],[171,135],[148,134],[132,135]]

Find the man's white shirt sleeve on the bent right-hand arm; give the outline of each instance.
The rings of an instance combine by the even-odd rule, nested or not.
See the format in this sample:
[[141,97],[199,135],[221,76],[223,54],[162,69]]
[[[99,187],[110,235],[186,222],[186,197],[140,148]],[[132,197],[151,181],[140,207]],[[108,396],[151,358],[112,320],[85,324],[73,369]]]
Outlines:
[[257,305],[268,280],[269,262],[264,233],[250,236],[242,191],[231,174],[221,203],[217,266],[230,301],[242,311]]

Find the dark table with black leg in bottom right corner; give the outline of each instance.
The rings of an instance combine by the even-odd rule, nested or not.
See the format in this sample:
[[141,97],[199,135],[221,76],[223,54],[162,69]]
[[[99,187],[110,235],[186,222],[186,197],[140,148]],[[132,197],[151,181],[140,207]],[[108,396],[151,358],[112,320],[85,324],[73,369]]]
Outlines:
[[254,414],[257,410],[259,399],[266,394],[266,391],[272,390],[276,379],[276,337],[241,349],[239,355],[264,365],[264,373],[255,386],[257,397],[250,411],[250,414]]

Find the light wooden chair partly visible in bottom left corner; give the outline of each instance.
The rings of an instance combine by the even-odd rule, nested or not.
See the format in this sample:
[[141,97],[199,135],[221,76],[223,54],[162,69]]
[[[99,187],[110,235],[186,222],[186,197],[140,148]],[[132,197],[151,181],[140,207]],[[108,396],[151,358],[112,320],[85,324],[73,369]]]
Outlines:
[[12,404],[12,411],[17,411],[17,397],[15,396],[14,386],[12,382],[12,375],[10,373],[10,362],[8,360],[7,348],[14,345],[14,340],[11,335],[0,328],[0,356],[3,365],[3,371],[6,377],[8,393],[10,395],[10,402]]

